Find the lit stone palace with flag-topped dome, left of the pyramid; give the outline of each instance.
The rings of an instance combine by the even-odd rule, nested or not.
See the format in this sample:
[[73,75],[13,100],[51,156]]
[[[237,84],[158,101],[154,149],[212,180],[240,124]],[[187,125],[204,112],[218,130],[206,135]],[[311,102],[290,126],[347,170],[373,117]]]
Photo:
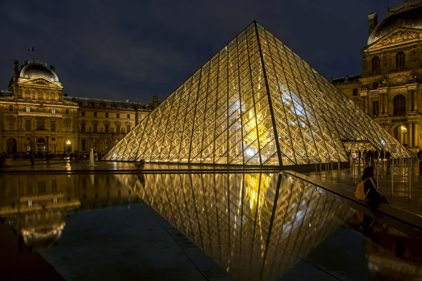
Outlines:
[[53,65],[15,60],[11,82],[0,93],[0,152],[106,152],[152,107],[68,96]]

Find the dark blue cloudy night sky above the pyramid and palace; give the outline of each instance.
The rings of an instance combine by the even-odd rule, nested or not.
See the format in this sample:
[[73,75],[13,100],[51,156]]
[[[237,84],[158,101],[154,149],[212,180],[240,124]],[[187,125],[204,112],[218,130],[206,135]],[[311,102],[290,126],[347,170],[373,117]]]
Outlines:
[[[61,3],[66,2],[66,3]],[[69,96],[151,103],[177,89],[252,20],[325,77],[361,72],[367,15],[402,0],[1,1],[0,89],[13,59],[56,65]]]

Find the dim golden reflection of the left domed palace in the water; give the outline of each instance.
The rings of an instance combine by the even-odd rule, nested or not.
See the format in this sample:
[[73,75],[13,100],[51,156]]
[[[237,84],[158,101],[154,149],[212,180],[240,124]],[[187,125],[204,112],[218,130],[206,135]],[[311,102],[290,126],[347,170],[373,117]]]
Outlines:
[[70,211],[138,202],[113,175],[20,175],[0,177],[0,216],[25,244],[56,242]]

